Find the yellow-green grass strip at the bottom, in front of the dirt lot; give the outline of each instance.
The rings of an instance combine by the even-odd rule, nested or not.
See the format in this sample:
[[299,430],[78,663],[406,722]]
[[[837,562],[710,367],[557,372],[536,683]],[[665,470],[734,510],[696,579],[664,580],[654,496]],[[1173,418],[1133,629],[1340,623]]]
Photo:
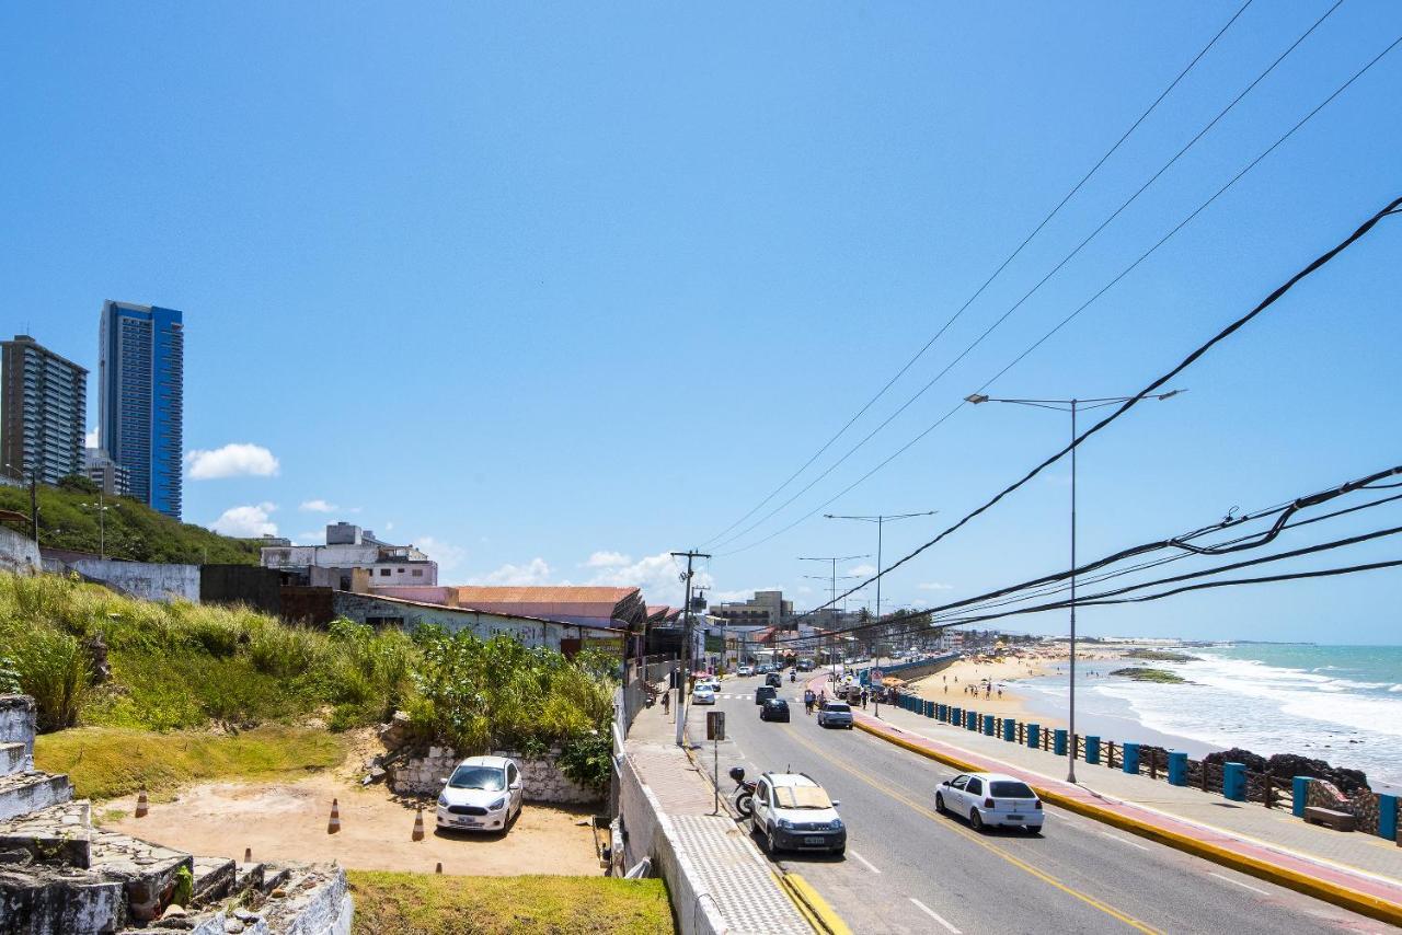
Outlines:
[[662,880],[346,871],[356,935],[672,935]]

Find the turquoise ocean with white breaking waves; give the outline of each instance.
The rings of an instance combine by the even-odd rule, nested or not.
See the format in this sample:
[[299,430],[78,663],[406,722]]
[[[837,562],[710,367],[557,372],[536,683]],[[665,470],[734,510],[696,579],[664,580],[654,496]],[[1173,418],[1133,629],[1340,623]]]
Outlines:
[[[1363,770],[1374,789],[1402,786],[1402,646],[1234,643],[1178,652],[1197,662],[1138,664],[1175,671],[1190,685],[1088,677],[1133,660],[1078,662],[1078,721],[1122,728],[1116,740],[1182,739],[1178,746],[1195,756],[1228,747],[1301,753]],[[1064,669],[1018,684],[1029,705],[1066,716]],[[1136,725],[1148,736],[1130,736]]]

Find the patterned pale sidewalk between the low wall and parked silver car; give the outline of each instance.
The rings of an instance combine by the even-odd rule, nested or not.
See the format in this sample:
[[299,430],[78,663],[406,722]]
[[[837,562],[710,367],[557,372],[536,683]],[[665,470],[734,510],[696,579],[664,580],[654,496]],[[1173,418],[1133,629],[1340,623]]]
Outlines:
[[[670,826],[679,862],[695,886],[695,904],[714,908],[733,935],[812,935],[792,900],[750,837],[721,809],[711,814],[715,799],[711,784],[697,772],[686,751],[676,746],[674,725],[660,705],[645,708],[634,721],[624,743],[628,761],[644,786],[660,806]],[[677,897],[673,896],[676,906]],[[694,922],[679,920],[683,931]]]

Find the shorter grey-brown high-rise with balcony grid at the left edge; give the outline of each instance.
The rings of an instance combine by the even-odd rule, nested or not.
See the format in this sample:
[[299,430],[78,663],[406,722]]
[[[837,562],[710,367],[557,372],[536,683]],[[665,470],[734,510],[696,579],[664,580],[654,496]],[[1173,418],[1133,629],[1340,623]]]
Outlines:
[[0,342],[0,470],[57,484],[83,472],[87,370],[29,335]]

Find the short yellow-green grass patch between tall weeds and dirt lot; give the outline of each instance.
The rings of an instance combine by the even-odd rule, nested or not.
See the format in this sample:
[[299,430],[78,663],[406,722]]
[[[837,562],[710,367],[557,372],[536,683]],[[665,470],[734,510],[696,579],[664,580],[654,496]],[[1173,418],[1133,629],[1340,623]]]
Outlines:
[[266,779],[327,770],[345,747],[325,730],[268,725],[237,736],[77,728],[35,739],[34,764],[66,772],[77,795],[112,799],[213,779]]

